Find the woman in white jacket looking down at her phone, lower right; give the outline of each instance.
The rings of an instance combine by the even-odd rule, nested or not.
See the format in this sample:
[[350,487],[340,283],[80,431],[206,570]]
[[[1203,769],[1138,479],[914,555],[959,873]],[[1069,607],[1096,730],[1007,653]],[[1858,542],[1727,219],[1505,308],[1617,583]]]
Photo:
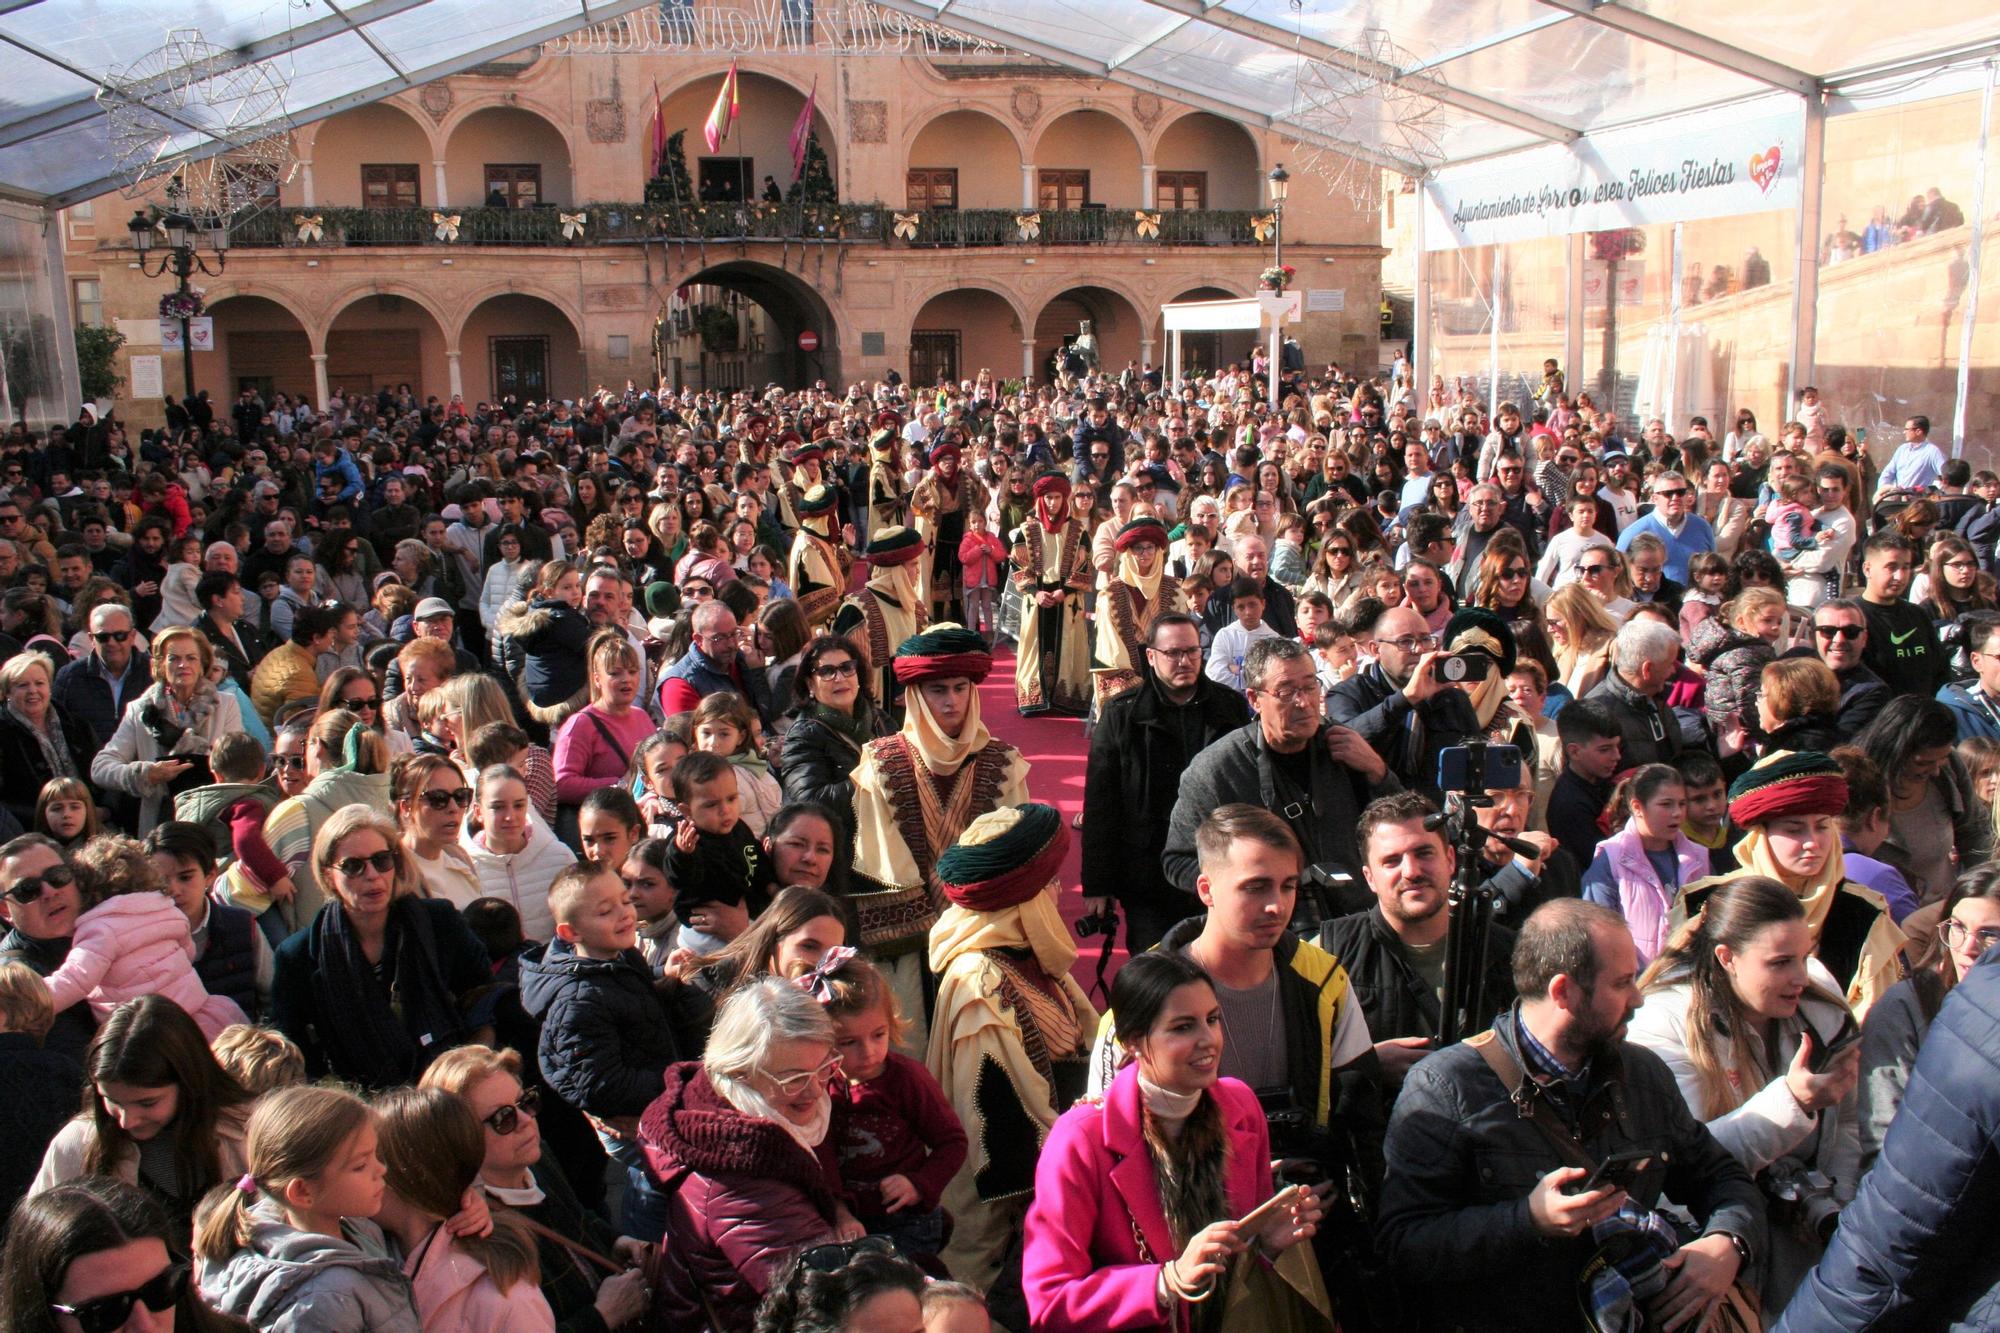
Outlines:
[[1812,957],[1798,895],[1756,875],[1716,887],[1640,991],[1632,1041],[1666,1061],[1688,1109],[1764,1189],[1760,1295],[1776,1315],[1860,1179],[1860,1029]]

